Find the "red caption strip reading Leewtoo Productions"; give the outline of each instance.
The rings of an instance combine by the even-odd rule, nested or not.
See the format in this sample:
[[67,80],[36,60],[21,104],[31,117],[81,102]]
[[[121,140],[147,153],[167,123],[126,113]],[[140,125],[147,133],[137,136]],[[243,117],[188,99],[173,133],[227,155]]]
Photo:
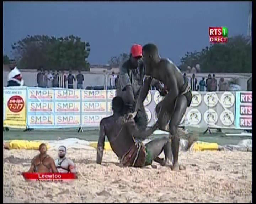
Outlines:
[[70,182],[76,179],[75,173],[22,173],[26,181],[45,181],[45,182]]

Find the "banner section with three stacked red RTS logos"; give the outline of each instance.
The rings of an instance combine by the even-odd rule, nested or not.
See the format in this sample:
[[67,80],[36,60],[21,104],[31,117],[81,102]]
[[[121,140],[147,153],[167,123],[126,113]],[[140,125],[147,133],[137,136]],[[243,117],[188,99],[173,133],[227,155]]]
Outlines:
[[252,92],[236,92],[236,128],[252,129]]

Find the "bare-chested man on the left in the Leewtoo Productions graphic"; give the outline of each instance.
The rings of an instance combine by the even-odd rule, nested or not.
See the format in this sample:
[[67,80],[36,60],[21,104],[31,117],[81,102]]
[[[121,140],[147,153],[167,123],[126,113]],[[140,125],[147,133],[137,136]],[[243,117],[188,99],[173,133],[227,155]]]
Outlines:
[[40,154],[36,155],[31,161],[31,166],[28,172],[38,172],[38,173],[57,173],[57,169],[52,157],[46,154],[47,147],[44,143],[39,146]]

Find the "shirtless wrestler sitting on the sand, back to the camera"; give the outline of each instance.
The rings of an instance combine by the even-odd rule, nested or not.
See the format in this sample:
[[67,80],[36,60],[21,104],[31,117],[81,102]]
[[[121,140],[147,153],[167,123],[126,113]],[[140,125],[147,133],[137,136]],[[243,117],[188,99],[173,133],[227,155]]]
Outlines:
[[[121,97],[114,97],[112,101],[113,115],[103,118],[100,122],[100,133],[97,145],[97,164],[101,164],[105,136],[110,146],[123,166],[143,167],[152,164],[153,160],[162,165],[171,165],[171,142],[169,138],[162,137],[150,141],[146,145],[136,142],[137,139],[145,139],[150,136],[158,124],[154,124],[146,131],[140,132],[134,119],[126,119],[122,114],[124,102]],[[164,159],[158,157],[164,151]]]

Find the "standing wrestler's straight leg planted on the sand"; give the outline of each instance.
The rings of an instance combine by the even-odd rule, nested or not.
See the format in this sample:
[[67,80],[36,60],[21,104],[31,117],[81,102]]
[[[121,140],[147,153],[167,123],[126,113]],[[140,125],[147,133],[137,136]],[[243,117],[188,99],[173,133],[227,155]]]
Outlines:
[[179,170],[180,166],[178,164],[178,152],[180,148],[180,137],[178,136],[178,125],[185,114],[187,109],[187,98],[184,95],[178,96],[175,109],[172,113],[172,117],[169,123],[169,130],[172,135],[172,154],[173,154],[173,167],[172,170]]

